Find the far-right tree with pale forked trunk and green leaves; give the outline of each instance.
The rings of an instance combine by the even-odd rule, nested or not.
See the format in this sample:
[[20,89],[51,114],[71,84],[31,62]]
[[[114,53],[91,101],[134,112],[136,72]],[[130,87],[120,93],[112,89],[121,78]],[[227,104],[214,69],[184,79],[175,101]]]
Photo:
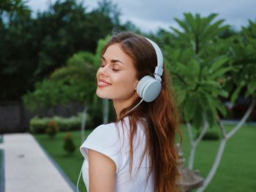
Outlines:
[[211,170],[206,177],[204,185],[202,188],[199,188],[198,191],[204,191],[211,182],[214,174],[217,172],[217,168],[222,158],[222,154],[225,150],[225,145],[228,139],[232,138],[234,134],[244,126],[244,123],[249,118],[249,115],[252,113],[252,110],[255,108],[255,96],[256,96],[256,57],[255,57],[255,48],[256,48],[256,24],[252,23],[249,20],[249,27],[243,28],[242,35],[235,37],[235,42],[231,48],[231,55],[233,61],[233,72],[230,75],[231,82],[236,86],[235,91],[232,94],[231,102],[234,103],[238,98],[239,93],[241,94],[241,89],[244,88],[244,98],[248,98],[251,102],[246,112],[244,113],[243,118],[239,120],[236,126],[231,129],[229,132],[222,125],[222,121],[218,119],[218,125],[222,134],[222,140],[217,151],[217,156],[215,158],[214,164],[211,167]]

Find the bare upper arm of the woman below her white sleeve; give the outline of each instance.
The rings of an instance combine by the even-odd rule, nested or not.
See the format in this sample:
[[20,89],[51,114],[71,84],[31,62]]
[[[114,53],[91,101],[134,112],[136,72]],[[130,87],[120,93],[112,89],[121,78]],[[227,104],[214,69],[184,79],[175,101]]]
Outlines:
[[106,155],[89,150],[89,192],[115,191],[116,164]]

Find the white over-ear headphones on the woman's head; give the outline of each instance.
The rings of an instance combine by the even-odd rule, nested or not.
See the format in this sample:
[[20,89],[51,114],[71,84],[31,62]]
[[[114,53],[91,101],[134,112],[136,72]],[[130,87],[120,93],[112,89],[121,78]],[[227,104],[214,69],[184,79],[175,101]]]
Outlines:
[[[147,39],[147,38],[145,38]],[[161,85],[161,76],[162,76],[162,65],[163,65],[163,57],[162,57],[162,51],[158,47],[158,45],[151,41],[150,39],[147,39],[148,42],[151,43],[151,45],[154,47],[154,50],[157,54],[157,66],[154,70],[154,77],[151,77],[150,75],[146,75],[138,82],[137,85],[137,93],[140,96],[143,101],[151,102],[154,101],[154,99],[157,99],[157,96],[159,96],[159,93],[161,91],[162,85]]]

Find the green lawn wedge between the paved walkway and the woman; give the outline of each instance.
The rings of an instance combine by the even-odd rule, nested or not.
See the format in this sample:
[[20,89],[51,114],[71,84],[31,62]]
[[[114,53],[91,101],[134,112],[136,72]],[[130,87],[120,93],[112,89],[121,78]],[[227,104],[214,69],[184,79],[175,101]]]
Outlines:
[[[86,131],[86,136],[91,131]],[[80,173],[81,166],[83,164],[83,155],[80,153],[79,147],[80,143],[80,132],[79,131],[71,131],[69,132],[74,139],[75,146],[77,149],[75,153],[72,155],[68,155],[64,149],[64,135],[66,133],[61,132],[56,135],[55,139],[50,139],[46,134],[37,134],[34,137],[37,141],[42,145],[42,147],[48,152],[49,155],[53,157],[57,164],[61,167],[65,174],[69,177],[69,179],[76,186],[78,180],[78,174]],[[80,191],[86,191],[86,188],[83,184],[83,177],[80,177],[79,183]]]

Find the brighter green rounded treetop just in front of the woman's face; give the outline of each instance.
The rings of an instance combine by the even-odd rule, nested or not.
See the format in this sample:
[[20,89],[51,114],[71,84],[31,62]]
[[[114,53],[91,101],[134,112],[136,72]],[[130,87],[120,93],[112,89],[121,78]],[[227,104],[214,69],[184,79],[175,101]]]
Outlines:
[[94,55],[91,53],[76,53],[69,58],[67,66],[50,75],[50,81],[61,82],[61,85],[69,90],[67,95],[64,94],[69,101],[85,103],[91,101],[94,96],[96,69],[91,61],[94,61]]

